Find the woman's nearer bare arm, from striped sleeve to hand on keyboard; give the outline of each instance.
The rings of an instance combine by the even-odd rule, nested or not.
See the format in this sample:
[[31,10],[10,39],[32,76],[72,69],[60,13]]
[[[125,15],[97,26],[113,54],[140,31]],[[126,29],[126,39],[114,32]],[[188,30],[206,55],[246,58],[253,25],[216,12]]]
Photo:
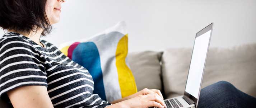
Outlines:
[[[7,92],[14,108],[53,108],[46,86],[22,86]],[[138,93],[137,93],[138,94]],[[148,108],[166,106],[157,93],[131,95],[124,101],[109,105],[106,108]],[[135,96],[134,98],[131,98]]]

